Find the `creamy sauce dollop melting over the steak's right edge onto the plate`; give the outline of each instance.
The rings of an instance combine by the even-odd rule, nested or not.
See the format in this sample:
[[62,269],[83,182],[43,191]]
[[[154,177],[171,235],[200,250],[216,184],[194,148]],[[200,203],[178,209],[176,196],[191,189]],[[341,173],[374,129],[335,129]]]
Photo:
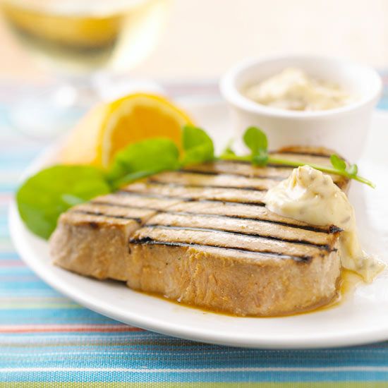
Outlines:
[[365,281],[372,281],[384,269],[383,262],[361,249],[354,208],[331,176],[310,166],[298,167],[289,178],[268,190],[264,202],[281,216],[343,229],[339,236],[341,265],[357,272]]

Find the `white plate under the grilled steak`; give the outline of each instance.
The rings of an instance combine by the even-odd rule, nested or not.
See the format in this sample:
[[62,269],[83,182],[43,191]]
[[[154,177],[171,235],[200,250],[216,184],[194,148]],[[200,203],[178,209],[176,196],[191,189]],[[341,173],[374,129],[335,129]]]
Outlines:
[[[214,139],[227,140],[222,103],[188,104]],[[360,236],[365,249],[388,259],[388,114],[376,113],[360,173],[377,183],[372,190],[352,184]],[[349,139],[351,141],[351,139]],[[49,160],[45,153],[32,170]],[[31,171],[31,169],[29,170]],[[137,327],[195,341],[253,348],[315,348],[388,339],[388,274],[361,284],[339,305],[315,313],[276,318],[243,318],[208,313],[132,291],[114,281],[97,281],[51,265],[46,241],[30,234],[13,204],[11,236],[23,260],[54,289],[91,310]]]

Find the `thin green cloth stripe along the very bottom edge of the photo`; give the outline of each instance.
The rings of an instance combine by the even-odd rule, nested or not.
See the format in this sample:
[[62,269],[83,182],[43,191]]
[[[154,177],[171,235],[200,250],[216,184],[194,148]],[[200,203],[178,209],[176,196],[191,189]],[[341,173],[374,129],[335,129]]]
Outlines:
[[387,388],[387,382],[0,382],[0,388]]

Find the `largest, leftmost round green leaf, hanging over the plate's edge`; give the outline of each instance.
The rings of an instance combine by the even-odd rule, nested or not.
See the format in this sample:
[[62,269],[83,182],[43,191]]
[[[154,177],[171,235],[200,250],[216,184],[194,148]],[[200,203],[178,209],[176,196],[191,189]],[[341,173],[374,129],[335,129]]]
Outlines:
[[16,200],[28,229],[49,238],[61,213],[111,190],[102,171],[91,166],[52,166],[23,183]]

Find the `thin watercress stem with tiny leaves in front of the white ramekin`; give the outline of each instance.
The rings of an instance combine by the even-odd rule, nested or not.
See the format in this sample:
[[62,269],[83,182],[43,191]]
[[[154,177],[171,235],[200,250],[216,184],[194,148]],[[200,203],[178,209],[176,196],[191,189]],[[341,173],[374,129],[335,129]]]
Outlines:
[[289,160],[284,158],[272,157],[268,152],[268,141],[267,135],[260,130],[259,128],[250,127],[248,128],[244,135],[243,140],[245,145],[250,149],[249,155],[236,155],[231,146],[228,146],[227,152],[223,152],[220,156],[220,159],[226,160],[243,160],[247,162],[252,162],[257,166],[266,166],[267,164],[275,164],[278,166],[310,166],[313,169],[320,170],[328,174],[337,174],[340,176],[345,176],[349,179],[354,179],[355,181],[365,183],[366,185],[375,188],[375,183],[369,181],[363,176],[358,175],[358,166],[356,164],[347,165],[344,159],[341,159],[337,154],[332,154],[330,156],[330,162],[332,166],[322,166],[320,164],[310,163],[310,162],[301,162],[297,160]]

